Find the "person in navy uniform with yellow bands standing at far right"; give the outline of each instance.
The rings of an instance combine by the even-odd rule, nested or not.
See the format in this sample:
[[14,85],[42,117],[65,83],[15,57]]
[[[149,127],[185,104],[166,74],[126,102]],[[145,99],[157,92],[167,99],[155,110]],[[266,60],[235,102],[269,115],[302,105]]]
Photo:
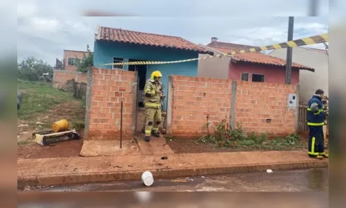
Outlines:
[[329,157],[325,153],[325,139],[323,135],[323,125],[327,114],[323,110],[322,89],[316,90],[315,94],[308,102],[306,112],[307,125],[309,127],[309,157],[323,159]]

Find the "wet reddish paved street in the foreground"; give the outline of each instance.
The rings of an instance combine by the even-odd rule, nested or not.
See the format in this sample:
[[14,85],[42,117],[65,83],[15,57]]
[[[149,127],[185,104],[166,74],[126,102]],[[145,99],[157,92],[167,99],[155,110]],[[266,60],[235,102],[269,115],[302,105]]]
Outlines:
[[[18,207],[243,208],[255,206],[261,208],[275,205],[277,207],[324,208],[329,204],[327,168],[180,178],[179,180],[181,181],[155,180],[152,187],[144,187],[140,181],[136,181],[19,191]],[[110,191],[110,193],[103,191]],[[246,192],[239,193],[239,191]],[[259,192],[251,193],[250,191]]]

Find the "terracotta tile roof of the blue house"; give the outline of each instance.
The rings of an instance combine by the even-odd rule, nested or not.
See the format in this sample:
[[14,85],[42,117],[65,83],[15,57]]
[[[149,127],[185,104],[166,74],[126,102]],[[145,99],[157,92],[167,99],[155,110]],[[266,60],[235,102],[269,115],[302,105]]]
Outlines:
[[182,37],[169,35],[157,35],[153,33],[141,33],[137,31],[127,31],[120,28],[100,27],[98,40],[108,40],[114,42],[125,42],[131,44],[143,44],[148,46],[161,46],[173,49],[196,51],[198,53],[209,53],[198,44],[184,40]]

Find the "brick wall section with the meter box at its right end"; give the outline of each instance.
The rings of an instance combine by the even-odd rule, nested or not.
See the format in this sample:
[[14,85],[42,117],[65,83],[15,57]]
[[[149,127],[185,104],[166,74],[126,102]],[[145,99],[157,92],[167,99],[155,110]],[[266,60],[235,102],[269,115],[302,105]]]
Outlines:
[[246,132],[291,134],[295,132],[295,110],[286,103],[288,94],[296,93],[295,85],[236,81],[236,122]]

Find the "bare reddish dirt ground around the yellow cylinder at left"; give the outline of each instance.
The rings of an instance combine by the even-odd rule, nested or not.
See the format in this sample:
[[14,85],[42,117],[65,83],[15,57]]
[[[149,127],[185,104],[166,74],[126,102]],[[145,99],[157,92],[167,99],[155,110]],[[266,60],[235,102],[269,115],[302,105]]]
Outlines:
[[81,140],[62,141],[51,146],[40,146],[32,140],[33,132],[49,130],[51,124],[60,119],[67,119],[71,128],[76,128],[81,138],[84,127],[80,123],[85,120],[85,109],[80,101],[71,101],[56,105],[47,114],[40,114],[31,121],[17,120],[17,157],[25,159],[49,157],[76,157],[82,148]]

